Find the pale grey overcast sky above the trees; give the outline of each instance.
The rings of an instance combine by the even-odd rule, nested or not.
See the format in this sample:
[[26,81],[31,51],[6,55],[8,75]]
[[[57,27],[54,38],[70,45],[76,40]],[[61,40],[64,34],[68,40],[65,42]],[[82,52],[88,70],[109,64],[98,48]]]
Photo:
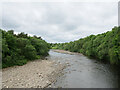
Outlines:
[[5,2],[2,29],[69,42],[118,25],[117,2]]

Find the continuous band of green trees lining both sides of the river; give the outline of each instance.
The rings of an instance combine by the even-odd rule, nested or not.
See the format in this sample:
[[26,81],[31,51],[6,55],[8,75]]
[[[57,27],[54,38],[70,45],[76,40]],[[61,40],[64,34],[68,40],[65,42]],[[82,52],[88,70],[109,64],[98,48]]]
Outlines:
[[[98,35],[90,35],[69,43],[47,43],[41,37],[28,36],[24,32],[16,35],[13,30],[2,33],[2,68],[24,65],[27,61],[40,59],[52,49],[79,52],[86,56],[120,65],[120,27]],[[2,39],[2,40],[1,40]]]

